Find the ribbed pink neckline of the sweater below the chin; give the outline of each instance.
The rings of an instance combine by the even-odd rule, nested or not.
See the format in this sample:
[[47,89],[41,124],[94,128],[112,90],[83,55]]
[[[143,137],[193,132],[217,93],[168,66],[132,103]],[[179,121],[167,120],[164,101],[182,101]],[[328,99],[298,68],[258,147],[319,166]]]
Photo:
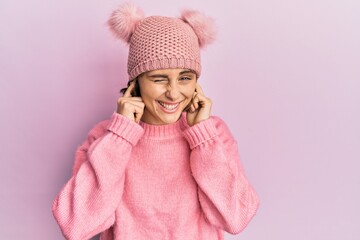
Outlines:
[[182,135],[182,132],[189,128],[186,113],[182,113],[179,120],[165,125],[152,125],[140,121],[140,126],[144,129],[143,137],[169,138]]

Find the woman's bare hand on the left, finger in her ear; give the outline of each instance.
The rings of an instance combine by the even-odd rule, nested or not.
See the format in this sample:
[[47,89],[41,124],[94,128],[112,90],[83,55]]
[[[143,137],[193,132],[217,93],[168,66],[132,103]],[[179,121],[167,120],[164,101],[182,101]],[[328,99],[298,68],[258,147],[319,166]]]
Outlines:
[[135,81],[133,81],[124,96],[120,97],[117,101],[117,113],[133,120],[137,123],[144,113],[145,104],[141,97],[133,97],[131,92],[135,88]]

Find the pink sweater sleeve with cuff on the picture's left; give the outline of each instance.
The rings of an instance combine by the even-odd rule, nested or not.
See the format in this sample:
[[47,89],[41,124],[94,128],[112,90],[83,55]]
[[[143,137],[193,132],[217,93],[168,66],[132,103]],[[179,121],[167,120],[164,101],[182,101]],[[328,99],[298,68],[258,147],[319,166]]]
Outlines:
[[90,239],[114,223],[125,168],[132,147],[143,134],[140,125],[117,113],[112,115],[103,135],[95,140],[94,132],[101,132],[102,127],[99,124],[90,131],[87,141],[77,150],[73,176],[52,206],[68,240]]

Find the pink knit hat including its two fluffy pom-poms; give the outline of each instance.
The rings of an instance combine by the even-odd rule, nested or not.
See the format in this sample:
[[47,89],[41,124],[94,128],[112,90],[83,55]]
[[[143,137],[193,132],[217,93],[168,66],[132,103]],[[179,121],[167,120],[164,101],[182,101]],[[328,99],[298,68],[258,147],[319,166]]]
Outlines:
[[164,68],[192,69],[199,77],[200,48],[215,36],[213,20],[191,10],[183,11],[180,18],[145,18],[141,9],[125,4],[112,13],[108,24],[116,37],[129,43],[130,80]]

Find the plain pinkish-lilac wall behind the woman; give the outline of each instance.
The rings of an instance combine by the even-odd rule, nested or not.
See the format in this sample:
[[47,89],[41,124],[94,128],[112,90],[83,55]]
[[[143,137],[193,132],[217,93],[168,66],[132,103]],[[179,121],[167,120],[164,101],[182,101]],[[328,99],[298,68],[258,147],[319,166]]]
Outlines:
[[[127,80],[127,47],[105,25],[120,2],[1,1],[0,239],[62,239],[52,201]],[[360,1],[136,3],[216,19],[200,83],[261,199],[226,239],[360,239]]]

